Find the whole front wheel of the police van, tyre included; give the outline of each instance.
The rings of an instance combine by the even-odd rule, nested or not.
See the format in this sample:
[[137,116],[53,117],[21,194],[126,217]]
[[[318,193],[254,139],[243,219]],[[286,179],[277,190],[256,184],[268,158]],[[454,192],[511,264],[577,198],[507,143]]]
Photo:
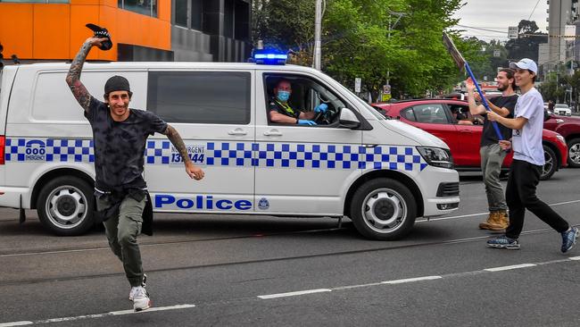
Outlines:
[[401,239],[416,216],[415,197],[396,180],[369,180],[352,196],[350,217],[357,231],[369,239]]

